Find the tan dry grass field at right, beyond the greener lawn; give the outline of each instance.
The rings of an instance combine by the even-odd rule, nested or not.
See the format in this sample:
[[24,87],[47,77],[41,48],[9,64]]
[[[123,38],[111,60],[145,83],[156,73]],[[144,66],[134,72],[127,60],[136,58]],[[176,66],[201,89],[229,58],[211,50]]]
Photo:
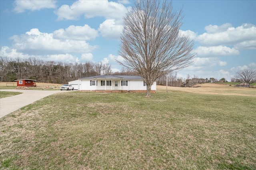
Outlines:
[[[160,92],[166,92],[166,86],[157,86],[157,90]],[[178,90],[182,92],[190,92],[197,94],[216,94],[216,95],[232,95],[232,96],[256,96],[256,88],[237,88],[234,85],[229,84],[214,84],[205,83],[198,84],[195,87],[171,87],[168,86],[168,90]]]

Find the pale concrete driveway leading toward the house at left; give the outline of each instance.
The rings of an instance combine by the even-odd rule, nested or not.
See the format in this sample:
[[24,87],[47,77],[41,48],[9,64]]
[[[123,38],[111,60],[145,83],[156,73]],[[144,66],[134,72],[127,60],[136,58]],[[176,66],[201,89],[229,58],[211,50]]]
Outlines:
[[66,90],[0,90],[5,92],[22,92],[22,94],[0,98],[0,118],[28,104],[55,93],[70,92]]

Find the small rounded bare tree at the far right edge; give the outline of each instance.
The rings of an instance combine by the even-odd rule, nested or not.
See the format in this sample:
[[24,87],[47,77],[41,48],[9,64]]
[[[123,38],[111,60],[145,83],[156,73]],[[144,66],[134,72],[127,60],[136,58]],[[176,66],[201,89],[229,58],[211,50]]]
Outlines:
[[252,84],[256,82],[256,70],[247,68],[236,73],[236,78],[242,82]]

